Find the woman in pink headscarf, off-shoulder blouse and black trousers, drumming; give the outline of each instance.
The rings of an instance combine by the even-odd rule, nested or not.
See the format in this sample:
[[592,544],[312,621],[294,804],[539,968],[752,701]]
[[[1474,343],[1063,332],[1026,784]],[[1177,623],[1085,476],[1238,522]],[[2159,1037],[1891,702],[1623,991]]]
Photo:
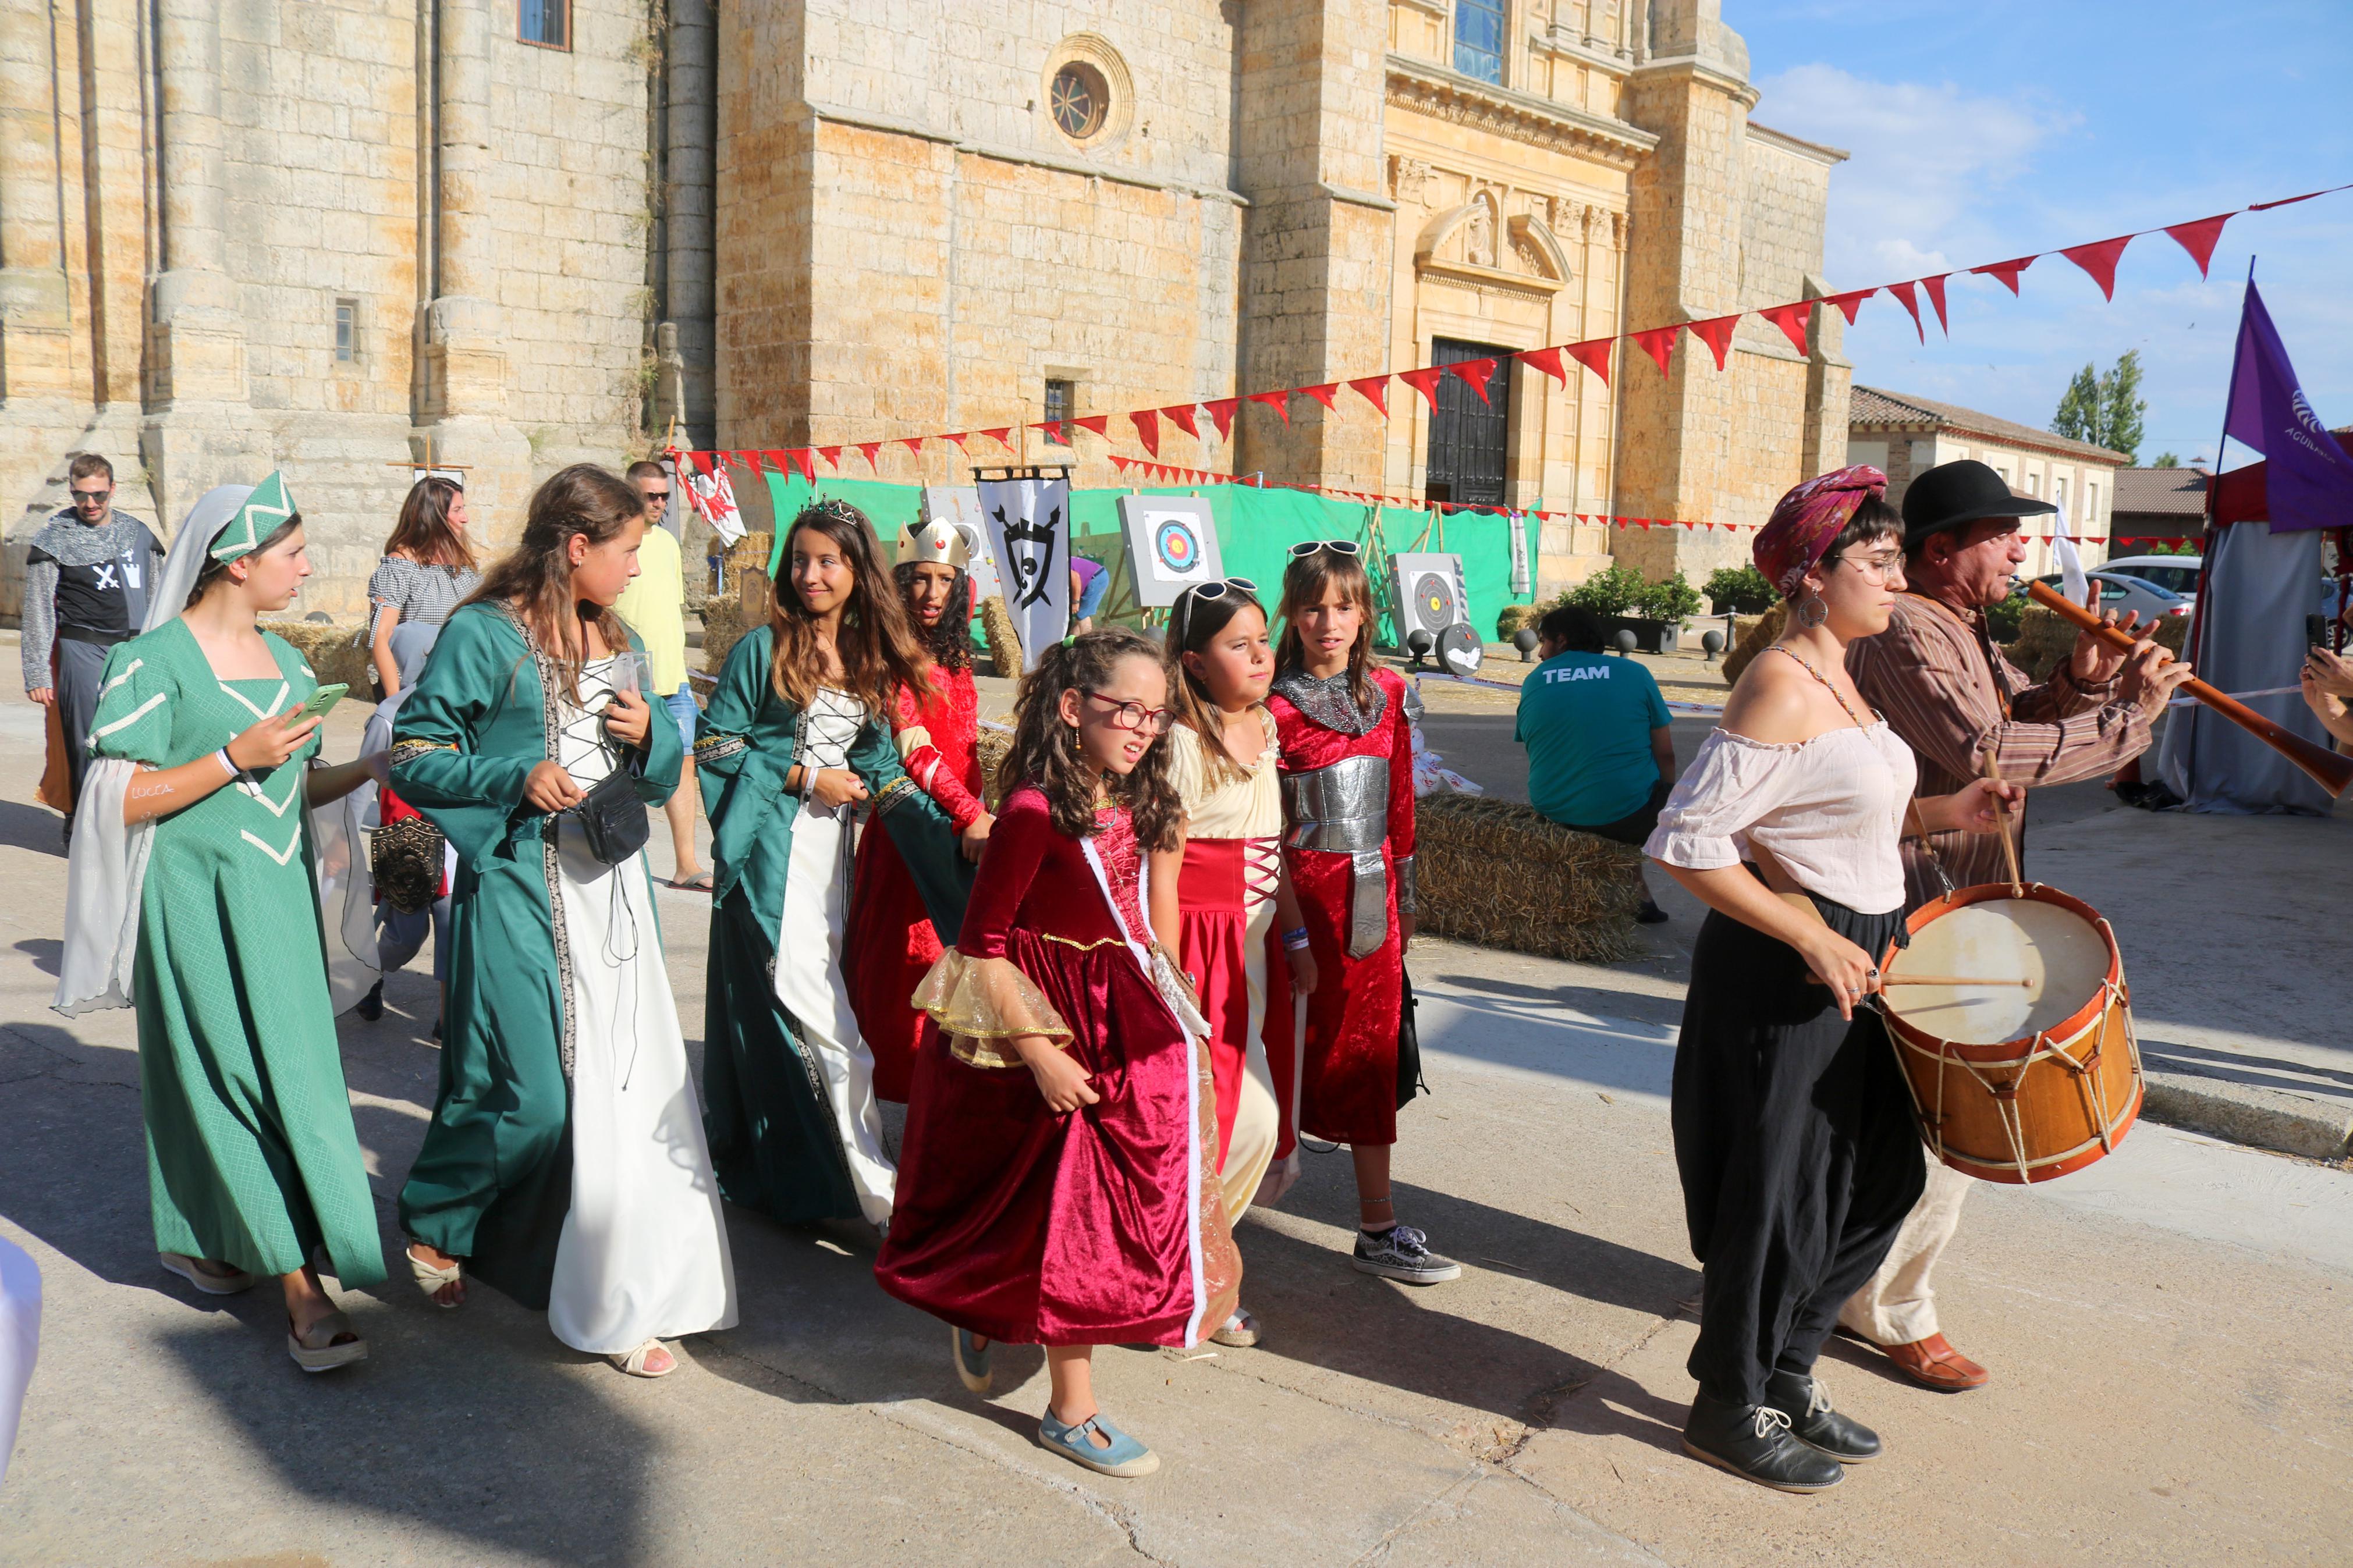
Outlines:
[[[1692,1458],[1817,1493],[1880,1439],[1831,1408],[1814,1356],[1925,1180],[1873,992],[1904,943],[1904,832],[1995,825],[2017,785],[1913,802],[1911,750],[1847,677],[1887,628],[1904,520],[1875,468],[1788,491],[1758,569],[1788,628],[1741,672],[1722,724],[1645,851],[1711,914],[1675,1046],[1675,1168],[1701,1265]],[[1908,811],[1911,806],[1911,811]]]

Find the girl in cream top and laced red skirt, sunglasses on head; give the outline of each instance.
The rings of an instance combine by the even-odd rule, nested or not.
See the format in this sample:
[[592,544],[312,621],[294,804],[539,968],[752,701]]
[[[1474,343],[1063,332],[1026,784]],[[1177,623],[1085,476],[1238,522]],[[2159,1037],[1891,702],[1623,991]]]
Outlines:
[[[1297,990],[1315,990],[1299,900],[1282,875],[1275,715],[1266,710],[1275,651],[1257,583],[1186,588],[1169,609],[1167,661],[1176,724],[1165,745],[1186,825],[1181,844],[1151,860],[1153,929],[1209,1020],[1217,1159],[1226,1220],[1238,1225],[1280,1128],[1266,1060],[1266,966],[1278,933]],[[1209,1338],[1257,1345],[1259,1321],[1235,1307]]]

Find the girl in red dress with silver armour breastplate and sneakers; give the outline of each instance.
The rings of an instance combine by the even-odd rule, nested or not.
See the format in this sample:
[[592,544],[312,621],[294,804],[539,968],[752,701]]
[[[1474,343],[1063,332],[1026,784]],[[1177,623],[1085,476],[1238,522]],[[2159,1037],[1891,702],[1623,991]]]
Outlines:
[[[1414,936],[1414,743],[1409,686],[1372,668],[1372,583],[1348,541],[1292,545],[1268,708],[1282,750],[1282,863],[1318,983],[1294,997],[1268,976],[1266,1048],[1289,1091],[1278,1154],[1299,1133],[1355,1159],[1355,1267],[1428,1286],[1461,1265],[1398,1225],[1388,1150],[1398,1143],[1398,1011]],[[1301,987],[1304,990],[1304,987]],[[1301,1006],[1304,1001],[1304,1006]],[[1306,1039],[1294,1041],[1299,1018]]]

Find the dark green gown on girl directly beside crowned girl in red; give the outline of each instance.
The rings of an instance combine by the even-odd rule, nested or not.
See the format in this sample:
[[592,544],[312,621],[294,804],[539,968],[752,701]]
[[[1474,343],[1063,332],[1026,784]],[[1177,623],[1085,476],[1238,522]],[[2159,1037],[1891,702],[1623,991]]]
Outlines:
[[[694,743],[694,776],[711,813],[711,971],[704,1004],[704,1128],[729,1204],[798,1225],[854,1218],[859,1199],[842,1128],[802,1030],[776,1001],[784,884],[793,867],[800,797],[793,771],[802,715],[769,682],[774,632],[755,628],[727,654]],[[955,936],[972,867],[955,825],[899,766],[887,724],[868,717],[849,745],[875,825],[892,835],[932,924]]]

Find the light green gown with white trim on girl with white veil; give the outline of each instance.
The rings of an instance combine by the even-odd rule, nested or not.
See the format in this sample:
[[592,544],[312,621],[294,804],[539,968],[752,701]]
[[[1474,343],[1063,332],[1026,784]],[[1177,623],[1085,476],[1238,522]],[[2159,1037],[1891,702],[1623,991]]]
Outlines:
[[[275,679],[214,677],[179,618],[115,646],[92,755],[179,766],[308,698],[311,665],[261,639]],[[327,992],[304,802],[315,752],[318,736],[151,825],[132,966],[139,1103],[160,1251],[252,1274],[292,1274],[322,1251],[344,1288],[365,1288],[384,1279],[384,1246]]]

